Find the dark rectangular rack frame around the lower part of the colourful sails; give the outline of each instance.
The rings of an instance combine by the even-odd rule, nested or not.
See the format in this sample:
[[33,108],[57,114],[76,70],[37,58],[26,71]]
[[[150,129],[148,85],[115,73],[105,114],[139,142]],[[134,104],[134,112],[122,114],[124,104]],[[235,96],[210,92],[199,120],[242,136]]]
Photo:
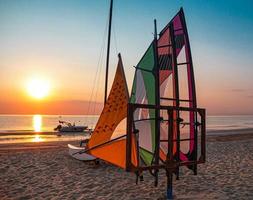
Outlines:
[[[168,115],[169,115],[169,124],[172,124],[172,126],[168,126],[168,145],[169,149],[171,150],[168,151],[167,154],[167,162],[165,164],[153,164],[150,166],[133,166],[131,164],[131,141],[132,138],[135,137],[135,135],[132,133],[132,125],[133,125],[133,114],[137,108],[147,108],[147,109],[159,109],[159,110],[167,110]],[[200,126],[200,146],[201,146],[201,152],[200,156],[197,159],[194,158],[192,161],[180,161],[180,160],[175,160],[174,157],[172,156],[172,149],[173,149],[173,112],[174,111],[192,111],[196,114],[200,115],[201,122],[198,124]],[[172,117],[171,117],[172,116]],[[188,108],[188,107],[174,107],[174,106],[156,106],[156,105],[149,105],[149,104],[135,104],[135,103],[129,103],[128,104],[128,117],[127,117],[127,157],[126,157],[126,170],[127,171],[145,171],[145,170],[152,170],[152,169],[175,169],[176,167],[179,166],[189,166],[189,165],[196,165],[196,164],[201,164],[204,163],[206,160],[206,119],[205,119],[205,109],[203,108]],[[160,138],[159,138],[160,139]],[[198,139],[198,137],[197,137]]]

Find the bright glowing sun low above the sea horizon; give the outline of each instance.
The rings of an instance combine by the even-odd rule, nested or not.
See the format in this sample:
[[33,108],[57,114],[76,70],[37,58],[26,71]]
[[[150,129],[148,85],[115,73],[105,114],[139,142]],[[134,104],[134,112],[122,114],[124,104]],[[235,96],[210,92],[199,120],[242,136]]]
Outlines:
[[27,82],[27,92],[35,99],[43,99],[49,95],[50,84],[45,79],[31,79]]

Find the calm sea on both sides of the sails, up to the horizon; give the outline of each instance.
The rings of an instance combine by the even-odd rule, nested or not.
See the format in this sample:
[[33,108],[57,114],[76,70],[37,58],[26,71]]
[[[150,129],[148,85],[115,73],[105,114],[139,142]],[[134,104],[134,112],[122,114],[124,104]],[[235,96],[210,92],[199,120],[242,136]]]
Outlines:
[[[85,133],[61,134],[54,128],[59,120],[94,128],[98,115],[0,115],[0,144],[75,141],[89,137]],[[253,115],[207,116],[207,134],[253,128]]]

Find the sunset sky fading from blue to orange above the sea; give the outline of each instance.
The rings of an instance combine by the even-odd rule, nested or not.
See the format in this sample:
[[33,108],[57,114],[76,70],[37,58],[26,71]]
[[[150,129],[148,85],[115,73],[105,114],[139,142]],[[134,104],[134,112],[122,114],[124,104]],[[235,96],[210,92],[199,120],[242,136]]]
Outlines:
[[[109,86],[121,52],[131,89],[153,20],[161,30],[183,7],[198,107],[209,115],[253,114],[252,6],[251,0],[115,0]],[[89,101],[103,101],[108,11],[109,0],[0,0],[0,113],[99,111],[102,103]],[[32,79],[50,83],[46,98],[28,94]]]

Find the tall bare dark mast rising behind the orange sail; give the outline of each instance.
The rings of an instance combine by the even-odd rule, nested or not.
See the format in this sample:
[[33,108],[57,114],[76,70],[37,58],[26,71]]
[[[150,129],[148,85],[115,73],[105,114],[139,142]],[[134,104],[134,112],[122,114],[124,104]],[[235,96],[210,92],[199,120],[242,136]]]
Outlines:
[[111,44],[111,26],[112,26],[112,7],[113,0],[110,3],[110,13],[109,13],[109,27],[108,27],[108,39],[107,39],[107,55],[106,55],[106,70],[105,70],[105,96],[104,105],[107,99],[107,84],[108,84],[108,70],[109,70],[109,58],[110,58],[110,44]]

